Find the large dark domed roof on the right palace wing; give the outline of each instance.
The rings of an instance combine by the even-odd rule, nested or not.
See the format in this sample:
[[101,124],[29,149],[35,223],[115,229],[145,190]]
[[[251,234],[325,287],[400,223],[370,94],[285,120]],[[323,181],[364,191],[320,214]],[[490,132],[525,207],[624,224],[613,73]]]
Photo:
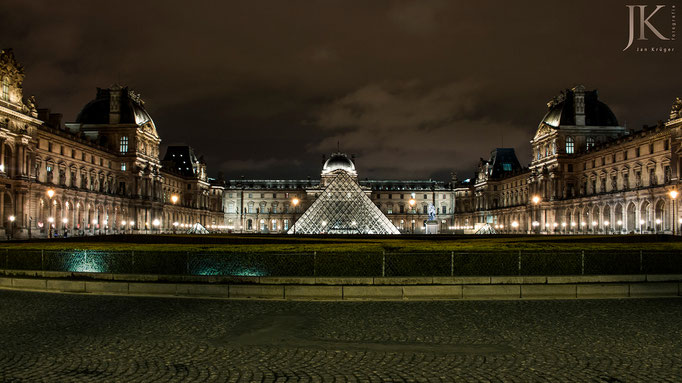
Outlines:
[[585,91],[584,89],[581,85],[567,89],[547,103],[547,114],[540,122],[540,127],[549,125],[553,128],[559,128],[562,125],[576,125],[576,92],[583,93],[585,97],[585,126],[619,126],[611,109],[599,101],[597,91]]

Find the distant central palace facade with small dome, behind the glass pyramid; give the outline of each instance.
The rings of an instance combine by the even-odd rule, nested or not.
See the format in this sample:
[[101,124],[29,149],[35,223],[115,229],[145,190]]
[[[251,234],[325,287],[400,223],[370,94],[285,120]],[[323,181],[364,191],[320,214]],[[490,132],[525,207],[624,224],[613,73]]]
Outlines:
[[[448,232],[454,222],[454,182],[358,180],[354,160],[343,153],[334,153],[324,161],[319,180],[241,179],[228,181],[225,191],[225,222],[229,228],[239,232],[293,233],[293,223],[306,213],[313,215],[308,212],[309,208],[336,179],[339,172],[348,175],[353,182],[357,182],[360,190],[377,207],[381,216],[376,216],[376,221],[384,222],[386,219],[382,227],[392,226],[401,233],[424,233],[429,204],[437,207],[436,219],[440,224],[441,232]],[[350,191],[350,187],[348,189]],[[363,217],[372,215],[375,213],[362,214]],[[351,217],[352,214],[347,216]],[[319,221],[319,226],[306,225],[309,228],[308,231],[333,232],[334,230],[322,227],[322,222],[327,225],[329,222],[320,217],[315,220],[315,222]],[[352,227],[353,219],[349,218],[349,220]],[[356,224],[360,222],[358,218],[355,221]],[[392,229],[386,230],[387,233],[396,233]],[[336,230],[336,232],[341,231],[344,229]]]

